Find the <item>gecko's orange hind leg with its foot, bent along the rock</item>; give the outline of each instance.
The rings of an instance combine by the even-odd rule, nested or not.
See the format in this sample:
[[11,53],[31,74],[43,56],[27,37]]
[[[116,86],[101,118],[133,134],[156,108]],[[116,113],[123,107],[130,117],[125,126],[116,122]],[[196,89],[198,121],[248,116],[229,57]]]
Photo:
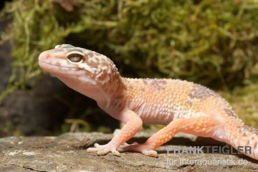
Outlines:
[[203,137],[212,137],[213,132],[218,128],[219,122],[211,117],[180,118],[171,121],[167,126],[151,136],[143,144],[121,145],[119,152],[136,151],[146,156],[157,156],[154,151],[174,137],[175,134],[183,132]]

